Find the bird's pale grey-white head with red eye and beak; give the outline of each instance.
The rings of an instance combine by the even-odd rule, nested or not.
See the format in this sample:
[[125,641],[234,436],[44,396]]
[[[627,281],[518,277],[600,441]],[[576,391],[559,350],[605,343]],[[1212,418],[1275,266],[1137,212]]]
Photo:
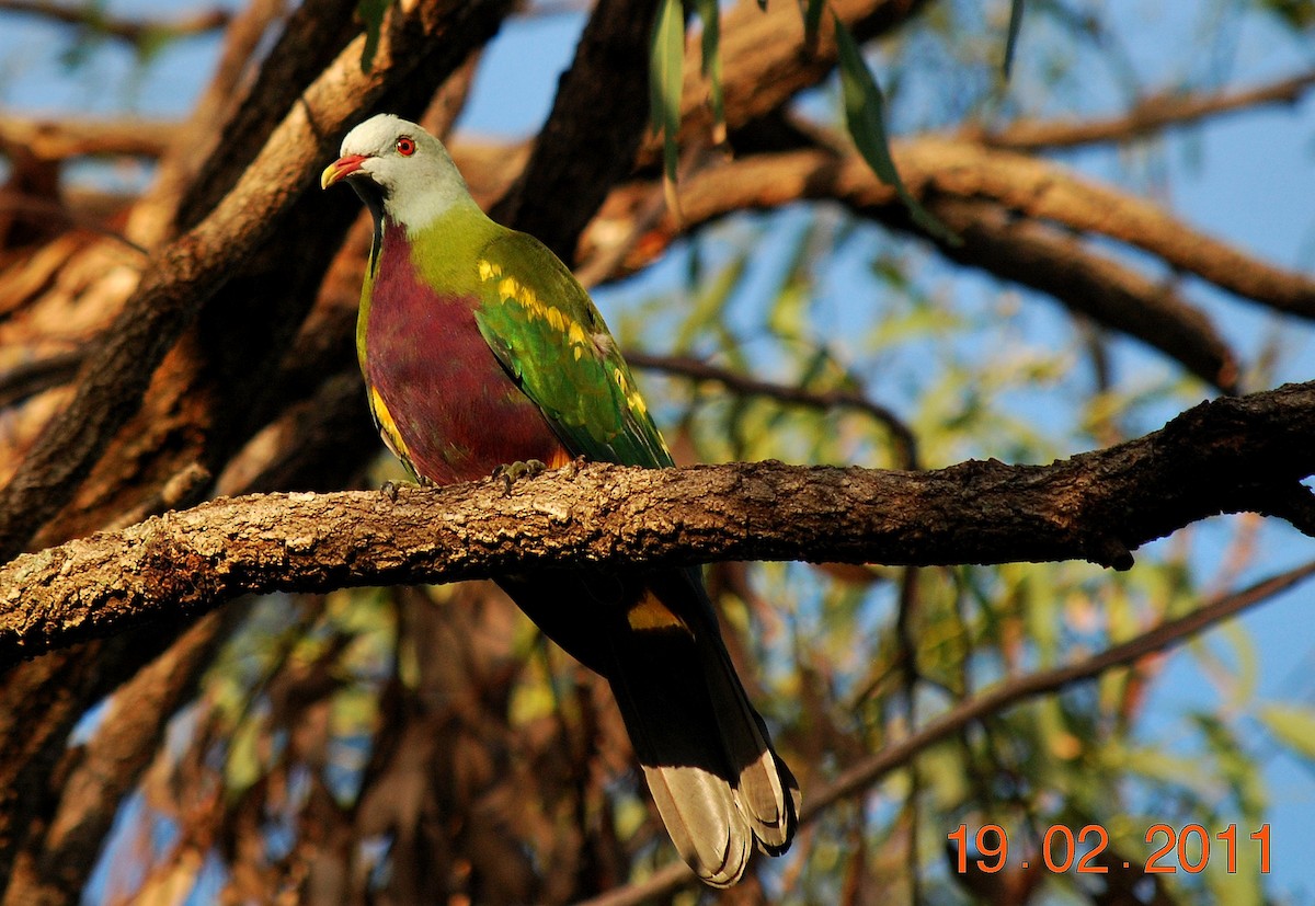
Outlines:
[[[342,139],[321,188],[347,180],[375,217],[419,230],[458,205],[471,205],[466,180],[437,138],[392,113],[366,120]],[[477,208],[476,208],[477,209]]]

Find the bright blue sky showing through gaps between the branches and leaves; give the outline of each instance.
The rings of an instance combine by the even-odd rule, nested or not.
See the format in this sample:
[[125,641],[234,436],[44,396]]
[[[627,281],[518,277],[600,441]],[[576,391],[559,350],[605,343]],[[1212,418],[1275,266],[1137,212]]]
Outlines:
[[[780,0],[777,0],[780,1]],[[121,14],[172,14],[179,7],[163,0],[108,3]],[[1199,4],[1128,3],[1128,9],[1159,9],[1164,21],[1191,21]],[[1130,17],[1131,18],[1131,17]],[[60,62],[67,46],[64,29],[36,20],[0,18],[0,104],[13,112],[79,112],[112,114],[125,108],[149,116],[184,113],[204,85],[213,58],[212,39],[195,39],[167,50],[143,78],[128,54],[105,45],[88,63],[70,71]],[[580,26],[577,16],[547,16],[530,24],[510,26],[492,45],[481,66],[472,103],[460,126],[481,134],[523,135],[547,114],[556,89],[558,72],[572,54],[572,41]],[[1226,26],[1230,22],[1223,22]],[[1164,32],[1157,30],[1162,36]],[[1315,51],[1277,39],[1264,22],[1248,20],[1230,41],[1236,42],[1235,84],[1252,84],[1279,74],[1315,66]],[[1203,64],[1184,53],[1168,53],[1156,39],[1130,29],[1123,36],[1130,58],[1140,71],[1157,74],[1165,84],[1185,71]],[[1024,26],[1020,54],[1028,53]],[[1177,67],[1177,68],[1176,68]],[[1093,74],[1093,79],[1102,78]],[[1115,92],[1111,88],[1111,97]],[[1111,108],[1114,103],[1111,101]],[[1095,176],[1107,178],[1120,160],[1110,151],[1076,154],[1065,162]],[[1161,149],[1157,166],[1166,178],[1173,208],[1186,221],[1227,237],[1262,258],[1310,272],[1315,268],[1315,100],[1307,97],[1295,108],[1270,108],[1223,118],[1202,129],[1176,135]],[[107,171],[87,168],[87,179],[138,184],[145,172],[133,167]],[[844,263],[842,262],[842,267]],[[851,262],[855,272],[861,262]],[[671,279],[671,268],[665,272]],[[840,275],[834,281],[846,283]],[[961,292],[984,297],[998,292],[986,280],[967,279]],[[605,314],[619,310],[635,298],[654,292],[651,285],[626,284],[598,293]],[[1191,283],[1189,296],[1203,305],[1224,330],[1230,342],[1251,358],[1274,331],[1274,320],[1255,306],[1222,292]],[[843,302],[836,302],[843,309]],[[1044,302],[1036,304],[1032,329],[1045,342],[1061,330],[1063,316]],[[1306,380],[1315,375],[1312,330],[1303,323],[1283,322],[1281,329],[1287,355],[1279,368],[1281,380]],[[660,348],[660,338],[650,341]],[[1118,343],[1120,372],[1137,375],[1161,368],[1155,356],[1134,343]],[[1172,413],[1164,413],[1165,416]],[[1153,426],[1152,426],[1153,427]],[[1216,526],[1195,529],[1208,539]],[[1277,571],[1308,559],[1315,551],[1310,539],[1282,526],[1268,526],[1261,535],[1264,571]],[[1208,544],[1198,546],[1208,559]],[[1208,565],[1208,564],[1206,564]],[[1257,571],[1251,579],[1260,577]],[[1298,589],[1247,615],[1241,622],[1257,650],[1257,689],[1261,698],[1315,700],[1315,630],[1311,630],[1310,592]],[[1210,644],[1227,650],[1227,642],[1211,636]],[[1177,713],[1184,702],[1208,703],[1214,693],[1205,684],[1193,659],[1176,655],[1168,673],[1156,688],[1152,707]],[[1261,747],[1261,751],[1266,751]],[[1279,892],[1315,897],[1315,860],[1307,853],[1315,839],[1315,775],[1286,755],[1266,763],[1266,780],[1273,805],[1273,874]]]

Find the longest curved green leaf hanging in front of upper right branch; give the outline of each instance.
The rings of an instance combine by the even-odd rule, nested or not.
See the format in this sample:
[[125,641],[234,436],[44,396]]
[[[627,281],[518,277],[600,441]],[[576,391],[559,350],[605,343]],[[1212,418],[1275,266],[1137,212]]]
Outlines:
[[844,95],[844,118],[849,128],[849,135],[859,149],[859,154],[872,167],[886,185],[892,187],[903,201],[909,213],[918,226],[931,235],[949,245],[961,245],[963,239],[949,231],[949,229],[923,208],[905,187],[896,170],[896,162],[890,156],[890,143],[886,139],[886,101],[881,95],[881,87],[868,70],[859,43],[849,34],[849,29],[839,17],[835,17],[835,43],[840,51],[840,89]]

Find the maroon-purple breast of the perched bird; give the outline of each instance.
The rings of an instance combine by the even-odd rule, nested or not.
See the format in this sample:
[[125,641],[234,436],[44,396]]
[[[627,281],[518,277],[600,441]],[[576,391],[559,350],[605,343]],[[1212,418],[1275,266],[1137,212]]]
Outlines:
[[366,381],[379,393],[416,471],[438,484],[502,464],[568,455],[512,381],[475,322],[475,300],[425,285],[401,227],[383,238],[366,325]]

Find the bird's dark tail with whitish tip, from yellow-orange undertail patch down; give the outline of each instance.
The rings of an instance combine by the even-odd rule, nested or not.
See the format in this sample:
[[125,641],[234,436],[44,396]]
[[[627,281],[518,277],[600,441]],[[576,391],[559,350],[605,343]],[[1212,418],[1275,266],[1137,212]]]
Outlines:
[[[739,881],[755,843],[790,846],[800,789],[772,750],[731,665],[710,605],[664,604],[702,596],[701,584],[651,586],[613,640],[606,676],[658,813],[690,868],[713,886]],[[673,617],[679,614],[673,619]]]

